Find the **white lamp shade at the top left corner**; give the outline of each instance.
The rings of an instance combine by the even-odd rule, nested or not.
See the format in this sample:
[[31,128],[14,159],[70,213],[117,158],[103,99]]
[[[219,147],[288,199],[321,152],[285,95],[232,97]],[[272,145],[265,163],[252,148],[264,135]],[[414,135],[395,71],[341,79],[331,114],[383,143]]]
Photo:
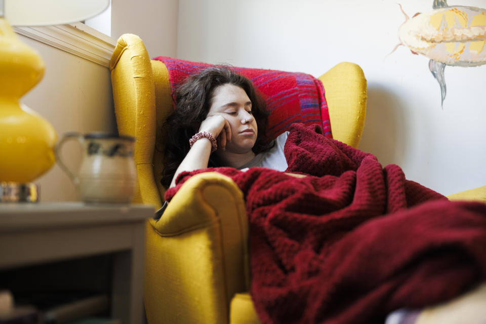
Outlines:
[[103,12],[110,4],[110,0],[4,1],[4,16],[12,26],[61,25],[82,21]]

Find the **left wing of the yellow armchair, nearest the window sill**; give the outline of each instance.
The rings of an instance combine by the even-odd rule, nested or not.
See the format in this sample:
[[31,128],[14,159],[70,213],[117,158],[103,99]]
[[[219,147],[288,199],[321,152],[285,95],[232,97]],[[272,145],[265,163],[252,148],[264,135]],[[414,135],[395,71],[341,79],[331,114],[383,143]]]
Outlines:
[[156,135],[155,88],[150,58],[133,34],[118,38],[110,60],[111,84],[118,132],[136,138],[134,159],[138,187],[134,202],[161,206],[152,165]]

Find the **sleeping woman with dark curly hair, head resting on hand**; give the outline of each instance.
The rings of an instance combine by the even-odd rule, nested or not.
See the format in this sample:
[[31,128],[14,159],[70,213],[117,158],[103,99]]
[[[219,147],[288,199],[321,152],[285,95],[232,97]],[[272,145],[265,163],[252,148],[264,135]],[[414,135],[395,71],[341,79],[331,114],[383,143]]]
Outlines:
[[167,118],[168,141],[161,183],[173,187],[182,171],[208,167],[287,169],[288,132],[268,141],[269,112],[252,82],[225,66],[186,79]]

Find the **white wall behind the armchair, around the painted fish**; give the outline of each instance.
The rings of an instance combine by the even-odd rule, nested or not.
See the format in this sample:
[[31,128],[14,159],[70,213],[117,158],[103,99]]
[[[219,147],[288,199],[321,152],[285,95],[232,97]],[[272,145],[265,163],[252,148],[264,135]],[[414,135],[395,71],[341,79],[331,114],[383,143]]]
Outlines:
[[[432,2],[402,6],[411,17]],[[443,194],[486,185],[486,65],[446,67],[442,109],[428,58],[404,47],[386,56],[404,20],[396,2],[384,0],[180,0],[177,57],[314,76],[357,63],[369,97],[360,149]]]

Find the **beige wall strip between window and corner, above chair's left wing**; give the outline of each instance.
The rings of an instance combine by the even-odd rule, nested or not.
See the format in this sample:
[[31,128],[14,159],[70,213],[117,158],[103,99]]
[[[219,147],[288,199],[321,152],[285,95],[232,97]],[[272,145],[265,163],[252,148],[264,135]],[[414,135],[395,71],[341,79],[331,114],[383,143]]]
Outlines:
[[140,36],[151,58],[176,56],[178,0],[112,0],[111,37]]

